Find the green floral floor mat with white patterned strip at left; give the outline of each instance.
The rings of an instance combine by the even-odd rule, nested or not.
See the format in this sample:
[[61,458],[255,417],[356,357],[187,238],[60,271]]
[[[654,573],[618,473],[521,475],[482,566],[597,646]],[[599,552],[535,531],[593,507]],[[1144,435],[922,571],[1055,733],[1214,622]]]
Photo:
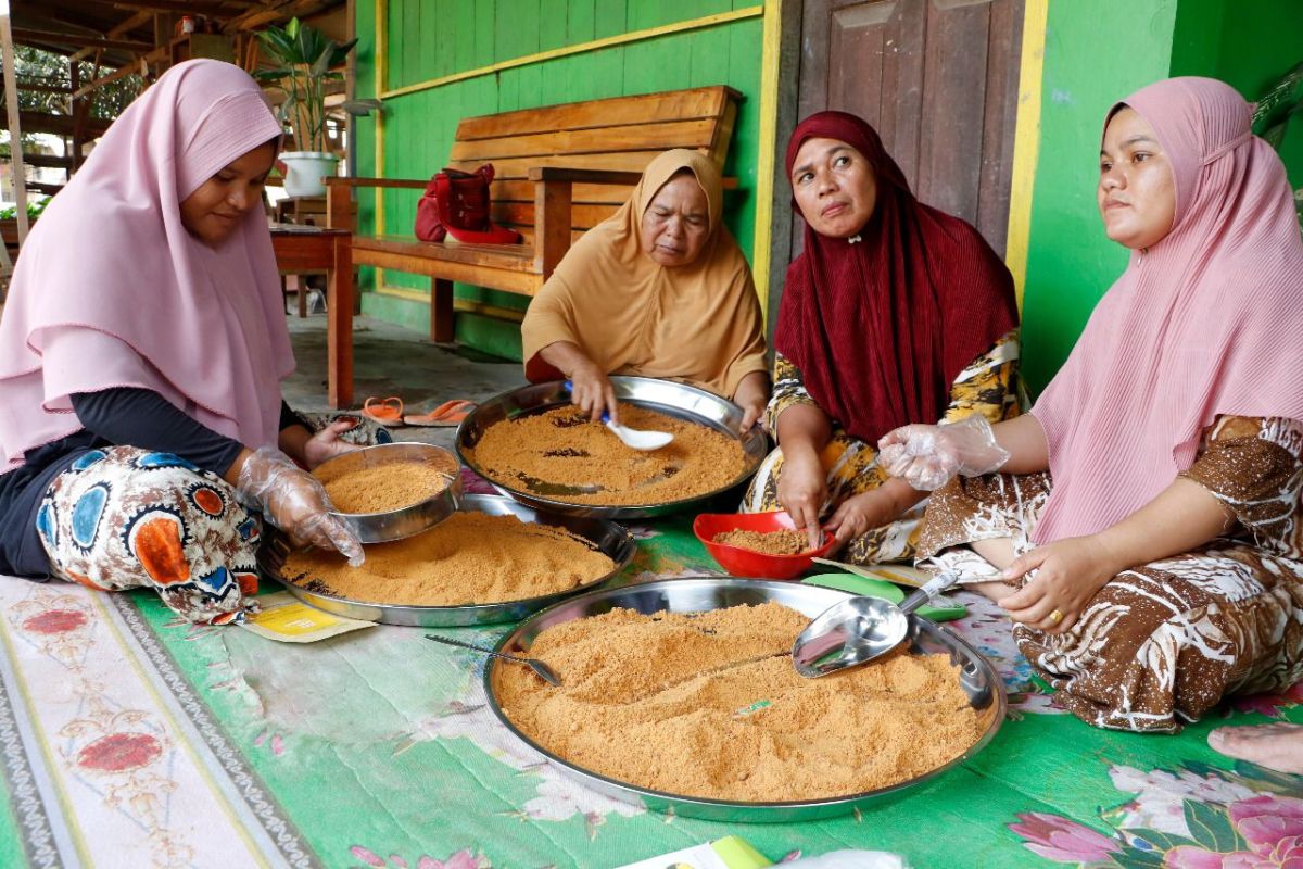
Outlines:
[[[719,572],[687,520],[633,532],[624,581]],[[498,724],[478,655],[437,648],[420,629],[281,645],[182,624],[150,594],[13,580],[0,589],[4,866],[236,866],[232,855],[251,853],[265,865],[605,869],[728,834],[774,861],[870,848],[920,869],[1303,860],[1303,778],[1213,753],[1205,736],[1224,715],[1140,736],[1063,714],[999,611],[971,597],[952,625],[995,662],[1011,701],[990,745],[863,813],[722,825],[575,783]],[[494,642],[508,629],[451,633]],[[129,680],[142,687],[134,700],[115,696]],[[1303,720],[1300,701],[1295,687],[1225,715]],[[203,808],[210,792],[220,812]],[[149,861],[124,859],[120,840]]]

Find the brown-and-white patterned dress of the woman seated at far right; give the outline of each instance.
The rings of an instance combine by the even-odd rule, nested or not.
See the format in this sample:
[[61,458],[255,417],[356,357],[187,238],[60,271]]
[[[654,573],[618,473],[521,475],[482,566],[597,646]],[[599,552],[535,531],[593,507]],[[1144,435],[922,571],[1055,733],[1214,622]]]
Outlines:
[[[1058,702],[1097,727],[1174,732],[1226,694],[1303,677],[1303,425],[1220,417],[1201,449],[1184,476],[1233,512],[1229,535],[1124,571],[1062,634],[1014,625]],[[920,556],[993,578],[994,567],[960,545],[1009,537],[1028,551],[1052,486],[1048,473],[956,478],[932,496]]]

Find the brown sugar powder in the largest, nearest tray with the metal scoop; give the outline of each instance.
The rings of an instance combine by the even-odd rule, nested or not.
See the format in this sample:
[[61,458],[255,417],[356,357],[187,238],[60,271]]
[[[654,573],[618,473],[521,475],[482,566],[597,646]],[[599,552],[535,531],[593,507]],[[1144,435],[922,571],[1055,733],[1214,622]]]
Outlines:
[[803,679],[788,653],[808,623],[773,602],[566,621],[529,650],[562,687],[508,664],[498,700],[532,740],[586,770],[745,803],[889,787],[981,737],[947,655],[896,654]]

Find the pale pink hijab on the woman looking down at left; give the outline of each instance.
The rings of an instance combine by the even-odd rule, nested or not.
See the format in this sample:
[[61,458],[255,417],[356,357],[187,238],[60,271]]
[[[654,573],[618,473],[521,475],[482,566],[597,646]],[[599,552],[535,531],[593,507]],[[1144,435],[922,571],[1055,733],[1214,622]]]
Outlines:
[[154,390],[249,447],[276,443],[294,367],[261,208],[212,249],[180,203],[280,135],[240,68],[169,69],[104,134],[23,245],[0,322],[0,472],[82,426],[69,396]]

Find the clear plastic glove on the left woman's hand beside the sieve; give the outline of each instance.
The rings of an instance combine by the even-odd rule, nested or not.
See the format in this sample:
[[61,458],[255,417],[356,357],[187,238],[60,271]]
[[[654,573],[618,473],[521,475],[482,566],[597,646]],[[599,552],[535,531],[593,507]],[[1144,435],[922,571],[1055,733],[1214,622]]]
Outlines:
[[366,558],[357,535],[330,515],[330,495],[321,481],[275,447],[262,447],[245,460],[236,494],[297,543],[339,550],[353,567]]

